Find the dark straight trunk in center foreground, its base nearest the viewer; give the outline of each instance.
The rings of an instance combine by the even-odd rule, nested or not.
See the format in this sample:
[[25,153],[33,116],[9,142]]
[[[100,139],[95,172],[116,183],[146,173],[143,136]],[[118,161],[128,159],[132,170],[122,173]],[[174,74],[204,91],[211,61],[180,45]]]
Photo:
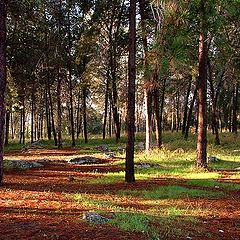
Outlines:
[[130,0],[129,9],[129,60],[128,60],[128,108],[125,181],[135,182],[134,140],[135,140],[135,81],[136,81],[136,0]]

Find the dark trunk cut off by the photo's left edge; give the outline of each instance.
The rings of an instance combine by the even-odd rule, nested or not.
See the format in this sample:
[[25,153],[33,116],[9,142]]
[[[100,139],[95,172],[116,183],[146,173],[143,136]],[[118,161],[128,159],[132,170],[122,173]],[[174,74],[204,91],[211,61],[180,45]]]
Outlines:
[[5,124],[5,89],[7,79],[6,62],[6,18],[7,0],[0,1],[0,185],[3,180],[3,147]]

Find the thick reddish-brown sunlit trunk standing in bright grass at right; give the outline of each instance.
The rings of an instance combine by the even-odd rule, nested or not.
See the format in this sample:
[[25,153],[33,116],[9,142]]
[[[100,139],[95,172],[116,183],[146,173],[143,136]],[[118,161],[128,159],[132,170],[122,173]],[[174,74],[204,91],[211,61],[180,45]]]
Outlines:
[[197,167],[207,167],[207,45],[205,1],[201,0],[201,26],[199,37],[199,77],[198,77],[198,141]]

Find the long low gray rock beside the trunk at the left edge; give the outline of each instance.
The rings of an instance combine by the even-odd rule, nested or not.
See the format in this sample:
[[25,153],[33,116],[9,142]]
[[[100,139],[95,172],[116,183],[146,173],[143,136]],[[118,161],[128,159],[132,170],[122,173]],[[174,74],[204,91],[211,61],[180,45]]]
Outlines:
[[35,167],[43,167],[39,162],[24,161],[24,160],[5,160],[3,162],[4,167],[7,169],[29,169]]

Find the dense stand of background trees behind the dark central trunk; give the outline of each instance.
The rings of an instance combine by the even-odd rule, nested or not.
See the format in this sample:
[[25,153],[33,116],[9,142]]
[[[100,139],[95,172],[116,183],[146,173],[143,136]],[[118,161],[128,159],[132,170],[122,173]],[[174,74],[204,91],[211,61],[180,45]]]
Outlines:
[[[9,2],[6,144],[53,138],[61,147],[71,136],[74,146],[89,133],[119,142],[129,119],[129,3]],[[238,1],[138,3],[135,130],[146,150],[162,147],[163,130],[198,132],[198,149],[207,128],[216,144],[219,132],[237,133]]]

